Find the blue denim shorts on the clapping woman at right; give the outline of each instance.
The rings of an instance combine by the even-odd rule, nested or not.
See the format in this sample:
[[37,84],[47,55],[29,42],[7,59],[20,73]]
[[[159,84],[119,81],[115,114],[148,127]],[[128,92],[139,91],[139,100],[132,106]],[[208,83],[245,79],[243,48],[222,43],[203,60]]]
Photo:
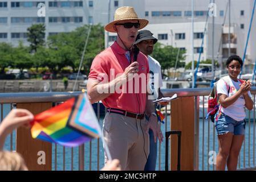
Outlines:
[[[216,113],[216,116],[217,114],[218,112]],[[218,120],[214,121],[214,126],[216,127],[218,135],[226,134],[228,132],[231,132],[234,135],[245,135],[245,119],[242,121],[235,121],[235,119],[221,113],[221,115],[218,116]]]

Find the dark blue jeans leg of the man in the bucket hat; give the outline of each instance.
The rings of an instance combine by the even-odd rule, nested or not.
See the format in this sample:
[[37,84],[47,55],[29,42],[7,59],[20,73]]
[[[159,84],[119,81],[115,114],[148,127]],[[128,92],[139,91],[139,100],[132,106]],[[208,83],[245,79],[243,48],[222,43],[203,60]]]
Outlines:
[[149,155],[145,165],[144,171],[155,171],[156,170],[156,158],[157,158],[157,140],[155,143],[153,131],[149,129]]

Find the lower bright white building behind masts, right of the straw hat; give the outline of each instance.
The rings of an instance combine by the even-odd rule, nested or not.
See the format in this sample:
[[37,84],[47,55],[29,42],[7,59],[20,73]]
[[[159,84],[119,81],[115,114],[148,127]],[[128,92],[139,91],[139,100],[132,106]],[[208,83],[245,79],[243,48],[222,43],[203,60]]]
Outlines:
[[[201,53],[201,60],[212,59],[212,23],[206,24],[206,29],[209,30],[204,36],[204,45]],[[145,27],[145,30],[150,30],[164,45],[178,47],[186,50],[185,63],[192,61],[192,31],[191,23],[161,23],[161,24],[149,24]],[[200,55],[200,48],[202,44],[202,36],[204,35],[205,22],[194,23],[194,60],[198,60]],[[218,44],[222,34],[222,25],[214,24],[215,36],[217,41],[214,42],[214,57],[218,52]],[[110,39],[116,39],[114,33],[109,34]],[[112,43],[112,42],[111,42]],[[109,43],[109,44],[111,44]],[[221,57],[220,57],[221,58]]]

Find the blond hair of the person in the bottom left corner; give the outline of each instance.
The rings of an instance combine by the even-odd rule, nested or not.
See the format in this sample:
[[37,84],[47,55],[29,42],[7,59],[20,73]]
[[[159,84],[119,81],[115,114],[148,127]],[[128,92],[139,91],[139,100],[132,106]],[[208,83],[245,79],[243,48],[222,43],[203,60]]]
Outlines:
[[27,171],[27,166],[17,152],[0,151],[0,171]]

